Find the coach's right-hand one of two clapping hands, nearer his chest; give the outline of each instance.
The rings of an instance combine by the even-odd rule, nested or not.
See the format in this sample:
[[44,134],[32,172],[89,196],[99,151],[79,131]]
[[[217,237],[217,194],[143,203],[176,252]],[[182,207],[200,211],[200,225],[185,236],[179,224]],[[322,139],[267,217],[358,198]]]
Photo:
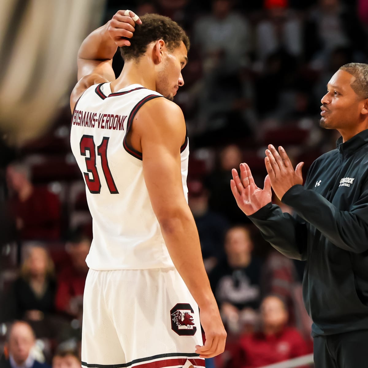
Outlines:
[[279,152],[277,152],[277,149],[272,144],[268,145],[265,164],[272,189],[280,201],[293,185],[303,184],[301,169],[304,162],[298,163],[294,171],[293,164],[281,146],[279,147]]

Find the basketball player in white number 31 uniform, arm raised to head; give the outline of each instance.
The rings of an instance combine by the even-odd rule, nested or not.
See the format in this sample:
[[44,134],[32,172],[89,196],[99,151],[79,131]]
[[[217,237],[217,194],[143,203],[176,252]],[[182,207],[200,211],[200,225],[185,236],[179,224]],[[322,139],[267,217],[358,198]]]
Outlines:
[[[189,40],[170,18],[135,24],[124,14],[82,43],[71,95],[71,148],[93,218],[82,367],[204,367],[226,332],[187,204],[184,117],[171,101]],[[117,45],[129,46],[115,79]]]

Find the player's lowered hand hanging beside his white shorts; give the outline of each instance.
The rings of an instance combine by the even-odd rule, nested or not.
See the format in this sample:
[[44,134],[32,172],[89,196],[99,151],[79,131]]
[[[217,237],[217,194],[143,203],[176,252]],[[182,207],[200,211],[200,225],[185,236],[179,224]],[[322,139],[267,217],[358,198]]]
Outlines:
[[217,305],[199,311],[201,325],[204,329],[206,342],[195,347],[195,352],[201,358],[212,358],[225,350],[226,331],[222,323]]

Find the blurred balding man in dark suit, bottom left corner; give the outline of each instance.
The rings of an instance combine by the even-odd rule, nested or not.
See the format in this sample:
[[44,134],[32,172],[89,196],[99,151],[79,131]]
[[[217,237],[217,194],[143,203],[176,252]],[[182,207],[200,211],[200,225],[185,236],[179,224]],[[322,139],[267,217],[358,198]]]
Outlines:
[[35,334],[31,326],[23,321],[10,326],[6,352],[0,360],[0,368],[49,368],[35,359]]

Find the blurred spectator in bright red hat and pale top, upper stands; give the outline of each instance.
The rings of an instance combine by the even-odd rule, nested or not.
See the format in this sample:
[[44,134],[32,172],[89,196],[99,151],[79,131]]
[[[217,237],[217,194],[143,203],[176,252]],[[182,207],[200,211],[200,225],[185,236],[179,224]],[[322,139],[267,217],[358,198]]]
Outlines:
[[299,57],[303,50],[302,25],[288,7],[287,0],[264,0],[267,17],[255,30],[256,54],[265,60],[270,54],[283,50]]

